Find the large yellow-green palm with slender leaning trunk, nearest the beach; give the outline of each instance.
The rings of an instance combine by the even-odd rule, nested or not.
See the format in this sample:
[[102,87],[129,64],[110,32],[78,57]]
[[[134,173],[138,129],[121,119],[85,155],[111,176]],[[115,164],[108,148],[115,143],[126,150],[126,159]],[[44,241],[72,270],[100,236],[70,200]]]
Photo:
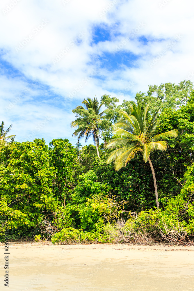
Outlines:
[[120,113],[124,117],[124,121],[114,125],[114,133],[120,135],[121,138],[113,139],[106,145],[107,148],[121,146],[108,155],[107,164],[114,161],[115,171],[125,167],[127,163],[135,157],[138,152],[141,152],[145,162],[149,162],[154,179],[154,189],[156,195],[156,205],[159,208],[158,190],[156,184],[156,176],[150,159],[150,154],[154,150],[165,151],[167,141],[162,138],[176,137],[177,130],[173,129],[168,132],[157,134],[159,127],[158,116],[156,111],[151,117],[149,109],[151,104],[144,105],[143,110],[140,104],[133,104],[130,108],[130,115],[121,110]]

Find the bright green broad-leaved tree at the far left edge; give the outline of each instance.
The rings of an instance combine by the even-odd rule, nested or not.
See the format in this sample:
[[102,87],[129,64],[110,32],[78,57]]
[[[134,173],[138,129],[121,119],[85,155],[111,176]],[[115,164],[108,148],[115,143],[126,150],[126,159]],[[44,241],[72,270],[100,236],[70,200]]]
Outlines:
[[48,146],[38,139],[13,142],[0,148],[0,161],[1,221],[9,221],[10,228],[18,228],[19,233],[36,227],[42,211],[52,213],[58,205]]

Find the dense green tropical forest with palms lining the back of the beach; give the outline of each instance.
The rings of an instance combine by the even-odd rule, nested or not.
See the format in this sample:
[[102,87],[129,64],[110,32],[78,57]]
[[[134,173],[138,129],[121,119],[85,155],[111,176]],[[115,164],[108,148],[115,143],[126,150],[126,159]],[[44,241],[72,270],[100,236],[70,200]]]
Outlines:
[[[73,110],[76,145],[67,139],[54,139],[49,145],[43,139],[20,143],[13,136],[8,143],[1,124],[0,240],[6,222],[13,240],[34,237],[51,239],[53,243],[192,240],[193,84],[183,81],[178,85],[149,86],[147,94],[136,94],[135,102],[136,105],[124,100],[117,105],[118,100],[109,95],[103,95],[100,103],[97,98],[84,100],[85,108]],[[146,139],[139,139],[134,119],[130,130],[126,130],[126,117],[131,119],[137,113],[132,108],[139,113],[146,108],[145,130],[153,129]],[[144,137],[148,132],[145,130]],[[81,138],[87,140],[89,136],[95,145],[82,146]],[[159,146],[151,146],[156,142]],[[126,144],[129,148],[125,148]],[[125,154],[128,150],[131,153],[131,149],[136,150],[130,157],[125,155],[118,160],[120,155],[115,156],[115,151]],[[155,180],[147,162],[149,157]],[[154,181],[160,208],[156,207]]]

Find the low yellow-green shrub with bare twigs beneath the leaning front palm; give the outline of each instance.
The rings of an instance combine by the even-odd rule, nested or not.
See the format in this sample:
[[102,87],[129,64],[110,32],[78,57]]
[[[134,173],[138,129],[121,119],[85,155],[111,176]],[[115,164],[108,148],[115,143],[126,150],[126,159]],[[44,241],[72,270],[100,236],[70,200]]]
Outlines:
[[114,243],[151,244],[156,241],[181,243],[194,235],[194,219],[189,223],[178,221],[175,215],[162,210],[131,213],[127,221],[120,220],[115,225],[107,223],[104,232]]

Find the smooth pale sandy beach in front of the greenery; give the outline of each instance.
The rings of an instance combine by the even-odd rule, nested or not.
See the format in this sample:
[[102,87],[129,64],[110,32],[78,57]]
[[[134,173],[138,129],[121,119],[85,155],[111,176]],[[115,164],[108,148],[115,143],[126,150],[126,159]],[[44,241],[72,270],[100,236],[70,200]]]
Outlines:
[[9,289],[0,250],[1,290],[193,290],[192,246],[11,244]]

